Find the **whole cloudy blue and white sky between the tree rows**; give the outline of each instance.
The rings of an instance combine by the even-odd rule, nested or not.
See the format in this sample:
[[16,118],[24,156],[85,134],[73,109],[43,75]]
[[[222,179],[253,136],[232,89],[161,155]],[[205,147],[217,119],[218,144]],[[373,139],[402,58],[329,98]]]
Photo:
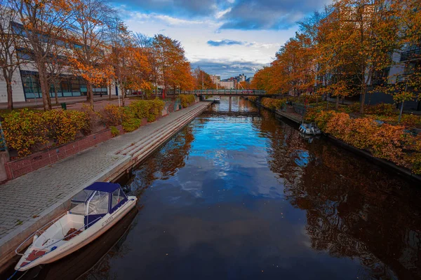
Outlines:
[[120,0],[129,29],[182,43],[192,68],[221,78],[255,71],[298,30],[296,22],[331,0]]

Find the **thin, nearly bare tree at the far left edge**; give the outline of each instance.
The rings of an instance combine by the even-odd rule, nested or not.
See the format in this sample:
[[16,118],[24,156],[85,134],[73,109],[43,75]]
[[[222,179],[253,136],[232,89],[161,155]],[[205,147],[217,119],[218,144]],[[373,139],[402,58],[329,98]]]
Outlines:
[[13,74],[19,65],[18,54],[15,48],[16,34],[13,32],[13,23],[18,14],[7,0],[0,0],[0,67],[6,82],[7,108],[13,109]]

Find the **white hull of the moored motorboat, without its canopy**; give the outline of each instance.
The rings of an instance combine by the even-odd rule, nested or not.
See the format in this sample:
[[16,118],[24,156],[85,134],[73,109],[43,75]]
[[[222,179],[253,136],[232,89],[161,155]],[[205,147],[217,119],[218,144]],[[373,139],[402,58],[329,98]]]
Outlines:
[[[64,258],[65,256],[74,253],[74,251],[77,251],[83,246],[86,246],[87,244],[91,243],[92,241],[103,235],[105,232],[107,232],[107,230],[112,228],[113,225],[120,221],[121,218],[126,216],[126,214],[128,214],[128,212],[131,211],[133,207],[135,207],[137,198],[128,197],[128,199],[128,202],[124,204],[123,207],[115,211],[113,214],[105,216],[105,218],[103,219],[100,219],[100,221],[98,221],[97,223],[91,225],[91,227],[88,229],[93,231],[91,235],[88,235],[85,238],[82,238],[84,236],[81,235],[74,237],[74,239],[72,239],[74,240],[73,244],[67,244],[65,246],[62,246],[62,248],[58,247],[54,251],[46,253],[45,255],[41,256],[40,258],[30,262],[28,265],[25,265],[23,267],[20,267],[20,263],[22,263],[22,260],[20,260],[20,262],[18,262],[18,265],[16,265],[15,269],[18,271],[25,271],[32,267],[36,267],[36,265],[55,262],[56,260],[60,260],[61,258]],[[80,238],[80,240],[77,240],[78,238]],[[29,246],[27,250],[32,250],[32,246]]]

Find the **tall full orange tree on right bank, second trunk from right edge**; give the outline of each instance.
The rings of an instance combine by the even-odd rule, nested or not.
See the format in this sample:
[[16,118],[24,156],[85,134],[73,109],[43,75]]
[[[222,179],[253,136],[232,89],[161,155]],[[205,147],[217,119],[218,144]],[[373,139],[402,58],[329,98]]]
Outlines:
[[392,53],[399,46],[399,20],[394,0],[341,0],[333,4],[341,16],[338,43],[353,63],[350,73],[359,81],[360,113],[376,71],[393,64]]

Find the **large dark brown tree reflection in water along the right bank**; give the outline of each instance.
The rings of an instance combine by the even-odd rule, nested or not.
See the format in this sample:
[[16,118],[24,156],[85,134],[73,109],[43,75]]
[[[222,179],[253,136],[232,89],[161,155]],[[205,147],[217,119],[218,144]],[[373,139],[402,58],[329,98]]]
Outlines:
[[421,190],[324,139],[308,144],[266,114],[255,125],[271,139],[270,169],[307,211],[312,248],[358,258],[374,278],[420,279]]

